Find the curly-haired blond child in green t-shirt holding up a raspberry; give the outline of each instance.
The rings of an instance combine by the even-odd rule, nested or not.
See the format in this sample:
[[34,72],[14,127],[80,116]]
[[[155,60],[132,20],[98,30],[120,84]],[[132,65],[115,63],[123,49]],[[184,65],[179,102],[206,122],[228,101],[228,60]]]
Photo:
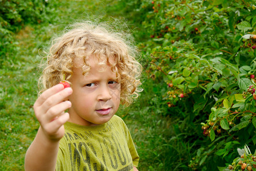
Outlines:
[[[137,52],[126,36],[85,22],[55,40],[34,104],[41,126],[25,170],[137,170],[133,140],[115,115],[141,84]],[[71,87],[59,84],[64,80]]]

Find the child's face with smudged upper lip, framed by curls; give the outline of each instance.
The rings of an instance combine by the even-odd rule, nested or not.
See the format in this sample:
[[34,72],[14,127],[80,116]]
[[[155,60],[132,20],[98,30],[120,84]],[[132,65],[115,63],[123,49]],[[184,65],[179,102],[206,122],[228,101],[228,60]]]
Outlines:
[[[69,96],[72,107],[69,109],[71,123],[79,125],[99,125],[111,119],[120,104],[121,86],[115,72],[109,64],[98,65],[98,58],[91,55],[87,63],[91,69],[84,76],[81,65],[83,59],[74,62],[73,75],[70,79],[73,93]],[[110,60],[111,63],[111,60]]]

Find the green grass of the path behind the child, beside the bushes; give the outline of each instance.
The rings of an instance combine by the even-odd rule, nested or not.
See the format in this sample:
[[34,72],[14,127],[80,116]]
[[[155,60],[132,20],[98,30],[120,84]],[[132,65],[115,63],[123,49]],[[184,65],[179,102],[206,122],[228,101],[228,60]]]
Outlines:
[[[49,22],[25,26],[15,35],[15,51],[6,54],[0,68],[0,170],[23,170],[26,150],[39,127],[33,104],[37,99],[40,49],[47,47],[51,37],[68,23],[90,15],[107,19],[111,13],[104,2],[92,0],[58,1],[49,9],[51,13],[45,16]],[[179,117],[162,115],[167,113],[166,105],[159,103],[163,89],[153,84],[144,79],[139,99],[118,113],[137,145],[141,157],[138,169],[189,170],[193,144],[183,140],[185,133],[177,125]]]

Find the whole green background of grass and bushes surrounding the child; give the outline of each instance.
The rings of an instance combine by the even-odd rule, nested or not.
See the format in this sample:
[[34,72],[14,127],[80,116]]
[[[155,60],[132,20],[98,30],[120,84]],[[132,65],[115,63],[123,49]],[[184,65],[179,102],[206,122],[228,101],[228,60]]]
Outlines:
[[142,52],[144,91],[118,113],[137,145],[139,170],[241,170],[239,160],[253,166],[237,149],[255,151],[255,5],[1,1],[0,170],[23,170],[39,126],[32,107],[40,49],[68,23],[96,15],[128,23]]

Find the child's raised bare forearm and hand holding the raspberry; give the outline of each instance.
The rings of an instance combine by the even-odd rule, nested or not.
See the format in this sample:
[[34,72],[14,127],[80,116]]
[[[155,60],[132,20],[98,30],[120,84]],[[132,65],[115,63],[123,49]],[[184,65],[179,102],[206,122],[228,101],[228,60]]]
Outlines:
[[63,124],[69,120],[71,107],[65,100],[72,93],[71,88],[58,84],[47,89],[34,104],[35,116],[40,127],[25,156],[25,170],[55,170],[59,140],[64,136]]

